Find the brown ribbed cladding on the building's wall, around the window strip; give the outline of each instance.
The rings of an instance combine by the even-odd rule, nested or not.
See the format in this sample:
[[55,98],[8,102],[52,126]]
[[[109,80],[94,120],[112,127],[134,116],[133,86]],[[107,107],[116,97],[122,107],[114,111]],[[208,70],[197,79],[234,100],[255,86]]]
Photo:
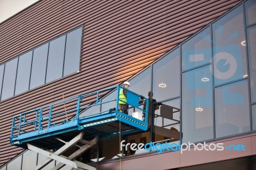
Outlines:
[[81,25],[83,42],[79,73],[0,102],[0,167],[23,151],[12,116],[124,82],[239,2],[42,0],[1,23],[0,63]]

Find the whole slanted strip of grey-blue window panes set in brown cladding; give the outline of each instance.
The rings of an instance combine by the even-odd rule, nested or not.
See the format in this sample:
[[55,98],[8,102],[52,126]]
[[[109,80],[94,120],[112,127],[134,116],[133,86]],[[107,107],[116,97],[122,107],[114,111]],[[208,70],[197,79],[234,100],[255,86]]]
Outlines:
[[1,100],[79,71],[83,27],[0,65]]

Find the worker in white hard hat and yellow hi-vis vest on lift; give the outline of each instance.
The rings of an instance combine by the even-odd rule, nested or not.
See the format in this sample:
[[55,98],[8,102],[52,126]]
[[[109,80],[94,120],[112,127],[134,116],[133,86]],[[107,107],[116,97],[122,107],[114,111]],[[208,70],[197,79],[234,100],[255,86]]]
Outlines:
[[124,85],[124,89],[121,88],[120,92],[119,92],[119,103],[118,104],[119,104],[120,111],[124,112],[125,114],[128,114],[129,105],[126,103],[127,102],[127,90],[125,90],[125,89],[129,88],[130,83],[125,81],[123,85]]

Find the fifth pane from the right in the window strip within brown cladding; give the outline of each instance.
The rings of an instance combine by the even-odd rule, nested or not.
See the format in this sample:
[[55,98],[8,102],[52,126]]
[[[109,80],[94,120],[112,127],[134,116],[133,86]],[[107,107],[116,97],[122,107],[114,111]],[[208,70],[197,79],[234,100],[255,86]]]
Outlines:
[[12,59],[5,63],[4,68],[4,82],[2,89],[1,100],[4,100],[14,95],[15,79],[17,72],[18,58]]

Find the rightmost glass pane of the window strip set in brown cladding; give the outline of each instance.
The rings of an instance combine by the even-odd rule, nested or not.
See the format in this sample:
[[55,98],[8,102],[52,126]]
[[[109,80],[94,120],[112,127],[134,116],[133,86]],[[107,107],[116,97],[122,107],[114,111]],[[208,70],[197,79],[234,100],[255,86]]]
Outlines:
[[65,51],[64,76],[75,73],[80,66],[82,27],[67,34]]

